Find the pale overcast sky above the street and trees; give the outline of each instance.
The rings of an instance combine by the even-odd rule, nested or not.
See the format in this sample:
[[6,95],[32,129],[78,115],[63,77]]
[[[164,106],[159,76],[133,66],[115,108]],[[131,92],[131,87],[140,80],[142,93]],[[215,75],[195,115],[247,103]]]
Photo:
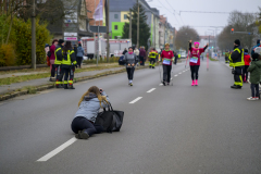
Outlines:
[[[201,12],[259,12],[261,0],[147,0],[152,8],[160,10],[160,14],[165,14],[169,23],[176,29],[183,25],[189,26],[225,26],[229,14],[214,13],[187,13],[181,11]],[[169,3],[167,3],[169,2]],[[175,10],[175,15],[173,14]],[[181,15],[179,15],[181,12]],[[213,27],[194,27],[199,35],[211,33]],[[217,30],[220,33],[222,28]]]

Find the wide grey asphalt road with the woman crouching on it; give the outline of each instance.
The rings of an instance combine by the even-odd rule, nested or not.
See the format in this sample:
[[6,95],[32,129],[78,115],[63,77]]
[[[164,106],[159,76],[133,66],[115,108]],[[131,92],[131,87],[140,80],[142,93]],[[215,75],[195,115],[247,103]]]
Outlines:
[[[198,87],[184,63],[173,72],[173,86],[160,86],[159,69],[139,70],[133,87],[123,73],[1,102],[0,173],[260,174],[261,101],[246,99],[249,85],[231,89],[223,61],[202,62]],[[125,111],[123,127],[75,140],[71,122],[92,85]]]

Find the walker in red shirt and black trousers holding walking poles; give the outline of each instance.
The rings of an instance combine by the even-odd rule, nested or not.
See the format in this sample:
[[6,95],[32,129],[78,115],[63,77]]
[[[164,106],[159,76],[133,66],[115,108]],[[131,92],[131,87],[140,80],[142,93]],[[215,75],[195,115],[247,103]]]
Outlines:
[[174,58],[173,51],[170,50],[170,44],[165,44],[165,50],[161,52],[161,60],[163,66],[163,82],[162,84],[170,85],[171,82],[171,71],[172,71],[172,60]]

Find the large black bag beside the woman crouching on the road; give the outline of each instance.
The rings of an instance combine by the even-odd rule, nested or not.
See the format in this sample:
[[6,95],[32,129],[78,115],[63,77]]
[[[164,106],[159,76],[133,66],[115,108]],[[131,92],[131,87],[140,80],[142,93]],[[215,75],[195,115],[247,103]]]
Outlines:
[[96,125],[101,125],[107,133],[120,132],[123,124],[123,111],[113,110],[111,103],[96,117]]

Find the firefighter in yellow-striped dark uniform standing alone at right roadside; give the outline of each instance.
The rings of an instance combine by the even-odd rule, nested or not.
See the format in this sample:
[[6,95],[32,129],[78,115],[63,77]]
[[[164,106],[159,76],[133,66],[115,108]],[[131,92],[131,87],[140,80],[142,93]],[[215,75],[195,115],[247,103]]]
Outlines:
[[245,66],[244,49],[240,46],[240,40],[236,39],[234,42],[234,51],[232,52],[229,60],[234,66],[234,85],[231,86],[233,89],[241,89],[243,87],[243,67]]

